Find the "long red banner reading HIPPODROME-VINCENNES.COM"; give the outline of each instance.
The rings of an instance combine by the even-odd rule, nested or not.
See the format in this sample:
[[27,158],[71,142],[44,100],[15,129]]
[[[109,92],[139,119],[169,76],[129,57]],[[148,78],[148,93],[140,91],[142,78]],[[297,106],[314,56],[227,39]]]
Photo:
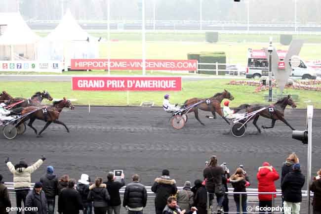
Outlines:
[[[197,60],[147,59],[146,70],[195,71]],[[142,70],[141,59],[111,59],[111,70]],[[72,70],[107,70],[108,59],[72,59]]]

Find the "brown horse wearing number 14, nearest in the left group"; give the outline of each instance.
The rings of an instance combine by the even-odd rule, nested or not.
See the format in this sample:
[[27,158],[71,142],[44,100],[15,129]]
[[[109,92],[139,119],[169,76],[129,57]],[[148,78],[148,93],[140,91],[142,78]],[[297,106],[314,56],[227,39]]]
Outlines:
[[61,121],[59,121],[59,115],[60,112],[62,111],[63,108],[69,108],[71,110],[74,110],[75,107],[73,106],[73,104],[71,103],[70,100],[66,99],[65,97],[62,100],[59,101],[55,101],[53,102],[52,106],[28,106],[26,108],[23,109],[23,111],[21,112],[22,115],[30,113],[32,111],[35,111],[34,113],[31,113],[30,115],[28,115],[26,118],[24,118],[22,121],[20,121],[18,123],[17,126],[20,125],[20,123],[23,123],[24,121],[27,121],[30,119],[28,126],[32,129],[34,129],[35,133],[37,134],[37,129],[34,128],[32,126],[32,124],[34,123],[34,121],[36,119],[38,120],[42,120],[45,121],[46,124],[44,125],[44,127],[40,130],[39,134],[37,135],[37,137],[42,137],[40,134],[51,124],[51,123],[55,123],[55,124],[60,124],[62,126],[64,126],[67,129],[67,132],[69,133],[69,129],[68,127]]

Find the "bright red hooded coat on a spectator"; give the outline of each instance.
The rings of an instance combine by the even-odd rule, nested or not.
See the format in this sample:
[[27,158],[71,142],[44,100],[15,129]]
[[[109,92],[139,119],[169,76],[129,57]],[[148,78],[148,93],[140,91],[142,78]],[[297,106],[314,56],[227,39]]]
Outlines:
[[[258,180],[259,192],[277,192],[274,181],[280,178],[278,172],[273,167],[259,167],[259,171],[256,174]],[[276,198],[277,195],[274,195]],[[259,194],[260,201],[271,201],[272,195]]]

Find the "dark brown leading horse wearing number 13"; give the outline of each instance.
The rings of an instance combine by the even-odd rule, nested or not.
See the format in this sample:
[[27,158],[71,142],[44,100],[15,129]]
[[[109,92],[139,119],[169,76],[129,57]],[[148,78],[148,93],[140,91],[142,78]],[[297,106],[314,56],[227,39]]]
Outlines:
[[[257,126],[256,122],[259,119],[260,116],[271,119],[272,124],[271,127],[267,126],[262,126],[261,128],[266,129],[266,128],[274,128],[274,125],[277,120],[281,120],[284,124],[286,124],[289,128],[292,130],[295,130],[291,125],[287,123],[287,121],[284,119],[284,109],[286,106],[291,106],[292,108],[296,108],[296,104],[291,98],[291,95],[287,95],[286,97],[281,98],[278,100],[276,103],[270,105],[266,109],[256,113],[256,115],[252,118],[253,119],[253,125],[257,128],[258,133],[261,133],[261,129]],[[245,109],[245,112],[247,114],[257,111],[261,108],[266,107],[263,104],[242,104],[239,107],[235,109],[235,112],[238,112],[242,109]],[[252,120],[251,119],[251,120]]]

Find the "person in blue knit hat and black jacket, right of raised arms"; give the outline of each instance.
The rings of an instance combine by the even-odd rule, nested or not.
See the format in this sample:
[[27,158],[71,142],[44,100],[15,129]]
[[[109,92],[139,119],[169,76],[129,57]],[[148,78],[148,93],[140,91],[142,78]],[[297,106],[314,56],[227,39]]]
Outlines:
[[46,174],[40,177],[42,190],[48,203],[48,214],[54,214],[56,195],[58,195],[58,178],[53,171],[53,167],[48,166]]

